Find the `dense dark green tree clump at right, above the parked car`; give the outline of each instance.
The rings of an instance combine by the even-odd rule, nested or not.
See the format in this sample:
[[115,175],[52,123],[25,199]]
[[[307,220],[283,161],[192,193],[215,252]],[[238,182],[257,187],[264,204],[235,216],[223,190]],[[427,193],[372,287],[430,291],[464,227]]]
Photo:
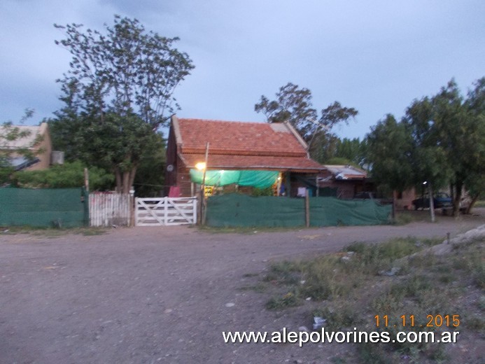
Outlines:
[[[449,185],[454,214],[463,187],[476,201],[484,190],[484,85],[485,78],[477,80],[465,99],[451,80],[433,97],[414,100],[400,123],[374,127],[367,135],[372,176],[391,188],[398,188],[401,179],[401,189],[424,182],[435,189]],[[399,139],[393,130],[401,130]]]

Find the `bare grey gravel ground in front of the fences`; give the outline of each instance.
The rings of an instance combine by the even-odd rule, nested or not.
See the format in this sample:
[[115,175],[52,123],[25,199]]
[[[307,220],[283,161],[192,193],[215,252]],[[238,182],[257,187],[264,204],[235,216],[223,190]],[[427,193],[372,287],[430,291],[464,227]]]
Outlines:
[[354,241],[454,237],[484,216],[249,234],[188,227],[0,234],[0,363],[332,363],[344,346],[223,342],[228,330],[310,325],[266,311],[268,297],[241,290],[252,274],[262,277],[270,260]]

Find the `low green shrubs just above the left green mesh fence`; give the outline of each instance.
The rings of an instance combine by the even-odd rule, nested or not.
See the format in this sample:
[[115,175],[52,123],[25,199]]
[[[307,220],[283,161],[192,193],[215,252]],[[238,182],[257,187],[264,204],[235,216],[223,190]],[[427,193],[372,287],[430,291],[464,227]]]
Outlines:
[[[84,186],[84,165],[66,162],[40,171],[22,171],[13,174],[13,184],[24,188],[77,188]],[[90,190],[110,189],[114,177],[104,169],[90,167]]]

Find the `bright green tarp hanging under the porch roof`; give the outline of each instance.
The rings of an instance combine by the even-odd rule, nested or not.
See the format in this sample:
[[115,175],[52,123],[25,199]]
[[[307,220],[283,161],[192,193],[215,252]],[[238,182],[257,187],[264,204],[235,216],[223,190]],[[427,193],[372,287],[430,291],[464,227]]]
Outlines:
[[[206,171],[205,183],[207,186],[226,186],[233,183],[239,186],[253,186],[255,188],[268,188],[276,183],[279,172],[273,171]],[[192,182],[202,184],[204,172],[190,169]]]

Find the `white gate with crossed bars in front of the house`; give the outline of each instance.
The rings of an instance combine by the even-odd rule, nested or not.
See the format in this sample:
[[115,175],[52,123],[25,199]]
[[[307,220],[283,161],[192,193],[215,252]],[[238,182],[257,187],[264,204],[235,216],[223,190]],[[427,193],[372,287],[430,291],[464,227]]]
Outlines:
[[136,226],[167,226],[197,223],[197,197],[135,199]]

